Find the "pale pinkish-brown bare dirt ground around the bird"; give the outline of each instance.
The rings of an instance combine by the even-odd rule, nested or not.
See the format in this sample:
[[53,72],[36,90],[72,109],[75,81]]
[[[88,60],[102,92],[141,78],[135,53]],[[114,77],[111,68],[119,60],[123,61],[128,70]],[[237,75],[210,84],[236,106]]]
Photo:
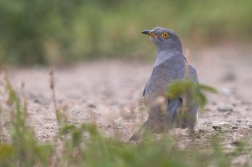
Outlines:
[[[197,69],[201,83],[220,91],[219,95],[208,96],[209,103],[199,114],[200,131],[196,142],[203,146],[212,134],[225,133],[221,141],[227,150],[232,150],[244,138],[251,141],[251,49],[226,47],[191,51],[188,61]],[[55,67],[57,104],[69,122],[95,122],[104,135],[120,136],[126,141],[147,117],[139,100],[153,64],[154,60],[150,63],[110,60]],[[21,83],[25,84],[28,122],[42,142],[50,141],[57,132],[49,86],[50,68],[9,69],[18,93],[21,92]],[[181,133],[179,142],[183,145],[190,138],[186,131]],[[234,161],[241,163],[249,155],[237,158]]]

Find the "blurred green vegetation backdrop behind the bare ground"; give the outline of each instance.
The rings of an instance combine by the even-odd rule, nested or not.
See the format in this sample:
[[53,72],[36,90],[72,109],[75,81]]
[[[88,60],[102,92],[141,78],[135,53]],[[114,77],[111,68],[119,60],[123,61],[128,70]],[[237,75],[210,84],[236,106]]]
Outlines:
[[0,16],[1,64],[145,60],[155,49],[140,32],[156,26],[189,47],[252,36],[252,1],[1,0]]

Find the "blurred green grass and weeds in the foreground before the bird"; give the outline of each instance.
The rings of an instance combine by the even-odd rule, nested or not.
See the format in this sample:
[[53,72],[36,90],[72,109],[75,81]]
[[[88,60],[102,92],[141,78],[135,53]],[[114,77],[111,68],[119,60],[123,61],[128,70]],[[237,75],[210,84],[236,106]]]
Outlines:
[[[51,72],[53,83],[53,72]],[[52,91],[54,89],[51,83]],[[189,82],[178,83],[178,93],[183,93],[180,88],[188,87]],[[0,138],[0,166],[173,166],[173,167],[202,167],[219,166],[229,167],[230,160],[244,152],[243,147],[237,147],[237,151],[227,153],[220,146],[218,136],[213,135],[208,147],[202,149],[192,141],[191,147],[181,149],[177,142],[168,135],[163,135],[158,141],[147,138],[145,141],[134,144],[124,143],[117,138],[103,137],[95,125],[69,124],[65,121],[60,111],[56,109],[58,134],[48,143],[41,143],[35,136],[32,127],[26,123],[29,117],[26,98],[20,98],[12,88],[5,76],[5,91],[9,106],[8,110],[0,112],[0,134],[3,134],[3,126],[8,127],[10,139]],[[176,87],[176,85],[174,84]],[[175,88],[174,87],[174,88]],[[193,86],[194,87],[194,86]],[[201,89],[201,87],[194,87]],[[203,87],[203,90],[210,90]],[[186,91],[187,92],[187,91]],[[177,94],[172,92],[173,95]],[[202,103],[203,104],[203,103]],[[5,107],[6,108],[6,107]],[[6,119],[3,114],[10,115],[5,125],[2,120]]]

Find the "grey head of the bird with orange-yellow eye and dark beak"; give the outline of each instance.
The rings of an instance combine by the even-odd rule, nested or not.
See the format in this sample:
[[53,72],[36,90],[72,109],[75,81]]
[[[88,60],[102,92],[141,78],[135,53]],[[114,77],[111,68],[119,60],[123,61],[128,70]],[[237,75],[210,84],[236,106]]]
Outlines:
[[182,51],[182,45],[178,35],[170,29],[156,27],[153,30],[144,30],[142,34],[149,35],[159,51]]

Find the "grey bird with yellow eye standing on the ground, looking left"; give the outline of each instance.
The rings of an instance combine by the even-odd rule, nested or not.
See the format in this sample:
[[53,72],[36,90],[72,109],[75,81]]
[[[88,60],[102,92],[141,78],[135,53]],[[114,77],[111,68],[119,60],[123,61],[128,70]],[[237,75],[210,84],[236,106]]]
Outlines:
[[[151,41],[156,45],[157,57],[143,91],[149,116],[129,141],[139,140],[147,132],[160,134],[171,128],[195,130],[198,120],[198,104],[192,98],[171,99],[166,93],[173,81],[191,79],[193,82],[199,83],[195,68],[187,63],[178,35],[173,30],[162,27],[144,30],[142,34],[149,35]],[[187,107],[183,108],[183,106]],[[183,118],[180,117],[182,111],[185,112]]]

